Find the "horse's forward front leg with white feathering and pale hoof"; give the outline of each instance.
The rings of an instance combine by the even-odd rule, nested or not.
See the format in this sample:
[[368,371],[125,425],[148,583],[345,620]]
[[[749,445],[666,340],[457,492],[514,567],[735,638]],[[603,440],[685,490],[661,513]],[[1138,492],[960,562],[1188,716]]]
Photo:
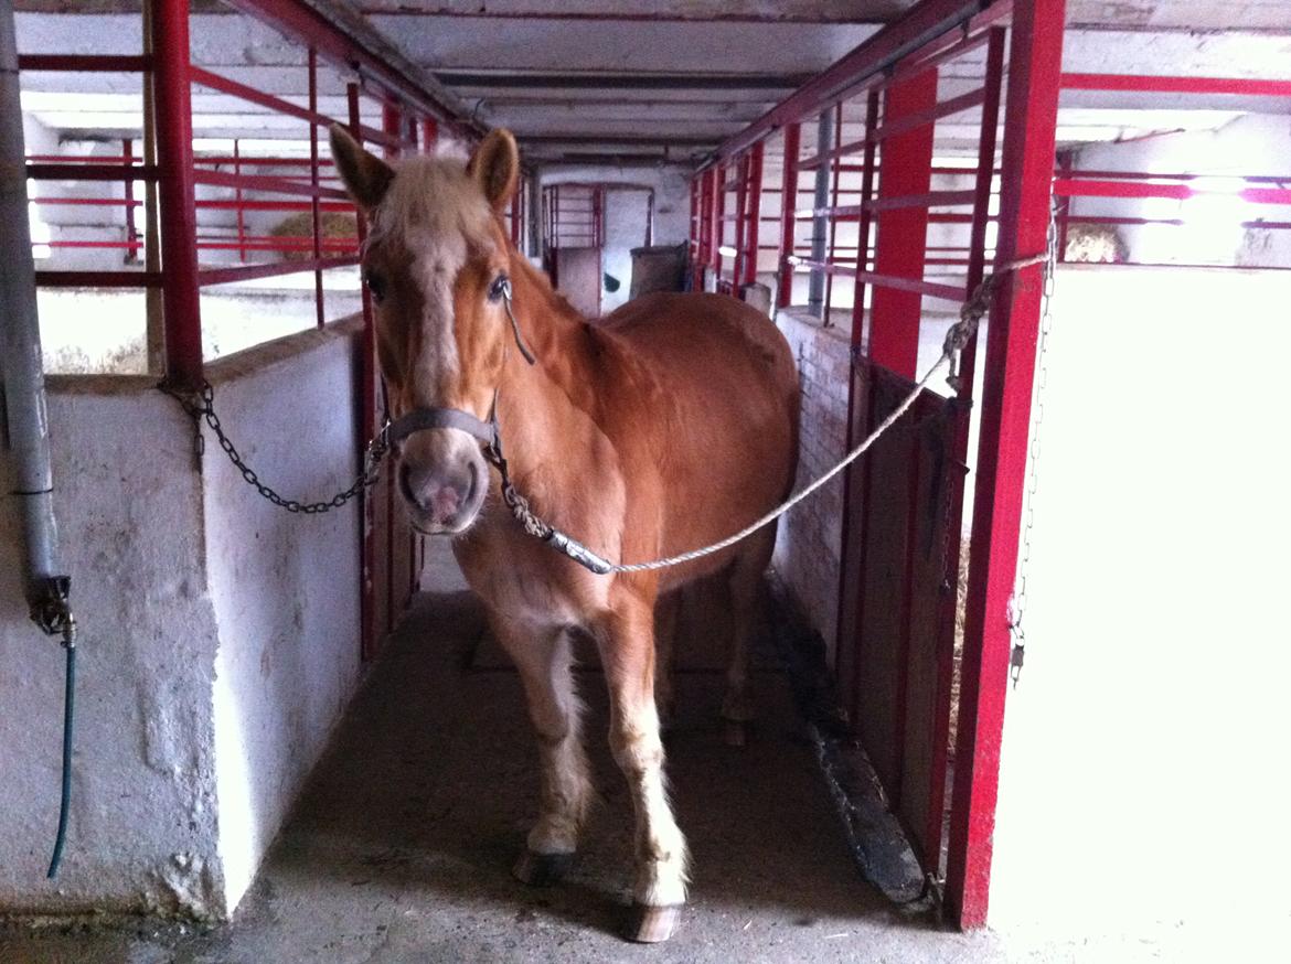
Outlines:
[[636,905],[627,936],[666,941],[686,902],[686,839],[664,782],[664,745],[655,706],[655,626],[651,601],[620,603],[596,627],[609,687],[609,748],[627,778],[636,817]]

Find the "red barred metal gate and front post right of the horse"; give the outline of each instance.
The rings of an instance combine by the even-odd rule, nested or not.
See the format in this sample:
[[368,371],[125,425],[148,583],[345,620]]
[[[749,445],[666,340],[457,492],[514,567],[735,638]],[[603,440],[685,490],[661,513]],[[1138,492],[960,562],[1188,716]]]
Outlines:
[[[851,325],[848,448],[936,360],[939,329],[990,266],[1044,250],[1062,27],[1062,0],[924,0],[697,176],[696,274],[711,271],[722,290],[762,274],[782,310],[806,302],[822,325]],[[759,244],[767,222],[778,223],[778,245]],[[1003,280],[976,400],[975,339],[957,388],[926,391],[852,467],[840,520],[834,668],[892,809],[962,927],[985,923],[1041,288],[1038,265]]]

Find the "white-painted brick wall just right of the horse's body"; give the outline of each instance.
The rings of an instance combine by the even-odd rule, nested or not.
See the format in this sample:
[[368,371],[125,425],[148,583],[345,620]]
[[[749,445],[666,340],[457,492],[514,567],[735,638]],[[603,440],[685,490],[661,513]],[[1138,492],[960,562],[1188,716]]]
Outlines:
[[[798,484],[807,485],[843,457],[847,444],[849,337],[821,328],[802,310],[784,308],[776,324],[793,347],[802,386]],[[834,654],[842,551],[842,476],[780,520],[773,565]]]

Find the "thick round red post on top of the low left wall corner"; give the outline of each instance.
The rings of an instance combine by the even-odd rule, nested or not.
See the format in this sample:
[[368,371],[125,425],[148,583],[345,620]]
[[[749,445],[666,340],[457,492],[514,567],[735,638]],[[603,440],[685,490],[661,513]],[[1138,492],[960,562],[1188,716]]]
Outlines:
[[201,296],[192,172],[192,89],[188,81],[188,0],[156,0],[152,90],[158,132],[158,194],[165,285],[165,378],[201,383]]

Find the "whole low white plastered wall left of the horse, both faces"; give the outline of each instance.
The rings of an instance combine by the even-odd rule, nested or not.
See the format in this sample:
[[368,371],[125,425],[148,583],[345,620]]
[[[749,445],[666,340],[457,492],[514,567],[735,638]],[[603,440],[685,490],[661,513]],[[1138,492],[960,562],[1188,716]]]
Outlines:
[[[213,367],[271,484],[355,470],[347,328]],[[235,484],[143,378],[50,379],[57,510],[81,625],[68,849],[58,804],[62,653],[27,621],[0,514],[0,910],[232,910],[358,675],[358,516],[288,519]],[[293,444],[309,439],[307,447]]]

